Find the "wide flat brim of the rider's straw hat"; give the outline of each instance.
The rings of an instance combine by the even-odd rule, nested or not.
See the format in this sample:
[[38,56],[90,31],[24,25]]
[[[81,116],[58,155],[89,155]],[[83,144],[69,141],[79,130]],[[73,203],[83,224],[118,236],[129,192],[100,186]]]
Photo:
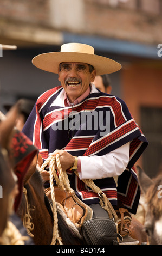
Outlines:
[[94,66],[96,75],[111,74],[121,69],[121,65],[112,59],[79,52],[49,52],[37,55],[32,63],[39,69],[58,73],[62,62],[81,62]]

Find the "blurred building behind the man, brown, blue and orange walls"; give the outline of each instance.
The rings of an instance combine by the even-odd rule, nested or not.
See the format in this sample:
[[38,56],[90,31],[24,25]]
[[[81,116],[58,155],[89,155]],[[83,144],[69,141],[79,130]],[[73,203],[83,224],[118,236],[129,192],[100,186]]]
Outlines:
[[60,84],[31,64],[37,54],[66,42],[92,45],[122,64],[110,75],[112,94],[127,103],[150,142],[138,163],[155,176],[162,162],[161,31],[161,0],[0,0],[0,44],[17,45],[0,57],[0,110]]

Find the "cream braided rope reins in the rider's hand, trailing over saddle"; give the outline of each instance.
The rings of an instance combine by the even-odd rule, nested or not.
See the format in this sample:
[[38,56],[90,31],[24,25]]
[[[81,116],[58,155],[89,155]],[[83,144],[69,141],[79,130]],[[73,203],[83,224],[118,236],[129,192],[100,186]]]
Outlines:
[[[55,170],[55,161],[57,163],[58,167],[58,175]],[[46,168],[46,166],[49,165],[49,172],[50,172],[50,188],[51,188],[51,199],[53,202],[53,218],[54,218],[54,225],[53,225],[53,239],[51,241],[51,245],[56,245],[58,243],[59,245],[62,245],[61,237],[59,236],[58,231],[58,219],[57,219],[57,207],[56,207],[56,200],[55,200],[55,191],[54,191],[54,182],[55,179],[57,186],[60,188],[60,190],[66,190],[67,192],[74,192],[74,190],[70,187],[70,182],[68,179],[67,173],[61,168],[60,164],[60,154],[56,154],[56,156],[49,156],[46,161],[42,164],[40,168],[40,172]],[[79,174],[75,171],[74,172],[77,176]],[[96,192],[99,195],[100,199],[100,205],[103,209],[105,209],[108,212],[109,218],[112,218],[117,224],[117,218],[116,212],[112,206],[112,204],[107,199],[106,195],[101,191],[101,189],[96,186],[93,182],[93,180],[82,180],[88,187],[90,187],[94,192]]]

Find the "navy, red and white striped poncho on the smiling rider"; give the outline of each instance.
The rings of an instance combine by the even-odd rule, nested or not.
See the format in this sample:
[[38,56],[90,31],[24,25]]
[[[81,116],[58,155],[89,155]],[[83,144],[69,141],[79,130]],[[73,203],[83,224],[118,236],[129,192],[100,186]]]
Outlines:
[[[56,149],[66,150],[74,156],[102,156],[130,142],[129,162],[126,170],[118,177],[118,187],[113,177],[94,182],[112,205],[120,200],[129,212],[135,214],[140,188],[134,163],[147,147],[147,139],[125,102],[118,97],[95,89],[72,108],[63,107],[63,92],[60,86],[43,93],[24,125],[23,132],[39,149],[43,160]],[[86,113],[85,117],[83,114]],[[67,170],[67,173],[71,187],[84,203],[99,203],[98,194],[90,190],[73,172]]]

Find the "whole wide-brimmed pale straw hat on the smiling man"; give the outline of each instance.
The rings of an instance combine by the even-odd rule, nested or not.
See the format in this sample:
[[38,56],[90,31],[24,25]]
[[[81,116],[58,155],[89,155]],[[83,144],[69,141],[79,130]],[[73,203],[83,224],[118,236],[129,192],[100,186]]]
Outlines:
[[90,45],[69,43],[61,46],[60,52],[48,52],[37,55],[32,63],[39,69],[58,73],[62,62],[81,62],[94,66],[96,75],[110,74],[121,69],[121,65],[112,59],[94,54]]

